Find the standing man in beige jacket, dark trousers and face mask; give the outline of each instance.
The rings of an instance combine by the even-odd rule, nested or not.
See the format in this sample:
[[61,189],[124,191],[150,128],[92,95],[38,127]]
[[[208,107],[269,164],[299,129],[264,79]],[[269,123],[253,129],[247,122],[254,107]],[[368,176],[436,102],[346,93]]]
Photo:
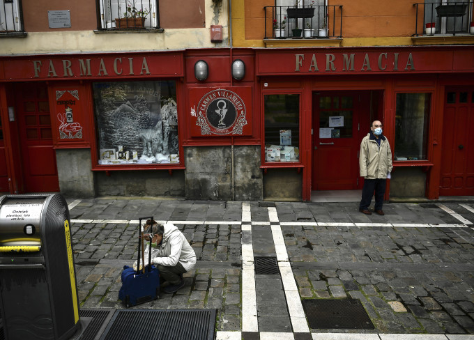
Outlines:
[[382,134],[380,121],[374,121],[370,130],[360,143],[359,170],[360,176],[364,178],[364,187],[359,211],[372,215],[369,206],[375,191],[374,210],[379,215],[385,215],[382,210],[383,195],[387,185],[387,176],[390,178],[392,171],[392,150],[390,150],[388,139]]

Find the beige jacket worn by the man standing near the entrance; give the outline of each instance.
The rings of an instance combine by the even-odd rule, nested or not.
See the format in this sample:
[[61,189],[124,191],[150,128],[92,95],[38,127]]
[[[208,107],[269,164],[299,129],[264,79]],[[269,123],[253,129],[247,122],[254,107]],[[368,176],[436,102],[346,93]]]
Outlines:
[[381,135],[380,147],[374,134],[368,133],[360,143],[359,171],[365,179],[387,178],[392,171],[392,150],[388,139]]

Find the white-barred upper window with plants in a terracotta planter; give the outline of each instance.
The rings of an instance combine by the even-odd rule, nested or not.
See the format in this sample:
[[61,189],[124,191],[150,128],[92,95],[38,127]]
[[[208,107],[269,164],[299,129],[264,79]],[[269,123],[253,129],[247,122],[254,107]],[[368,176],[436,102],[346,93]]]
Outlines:
[[99,30],[159,29],[158,0],[96,0]]

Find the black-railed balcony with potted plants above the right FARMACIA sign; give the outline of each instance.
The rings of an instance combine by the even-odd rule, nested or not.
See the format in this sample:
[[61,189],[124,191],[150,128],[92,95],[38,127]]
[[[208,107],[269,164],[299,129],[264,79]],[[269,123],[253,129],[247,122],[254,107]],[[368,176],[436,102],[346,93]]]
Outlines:
[[265,6],[265,39],[342,38],[342,6]]

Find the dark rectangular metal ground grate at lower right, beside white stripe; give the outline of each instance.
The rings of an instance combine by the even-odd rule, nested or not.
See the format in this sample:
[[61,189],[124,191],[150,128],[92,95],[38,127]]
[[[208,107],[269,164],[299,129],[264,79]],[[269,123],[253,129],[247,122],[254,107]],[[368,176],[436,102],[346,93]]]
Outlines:
[[374,329],[372,321],[359,300],[303,300],[302,303],[310,328]]

